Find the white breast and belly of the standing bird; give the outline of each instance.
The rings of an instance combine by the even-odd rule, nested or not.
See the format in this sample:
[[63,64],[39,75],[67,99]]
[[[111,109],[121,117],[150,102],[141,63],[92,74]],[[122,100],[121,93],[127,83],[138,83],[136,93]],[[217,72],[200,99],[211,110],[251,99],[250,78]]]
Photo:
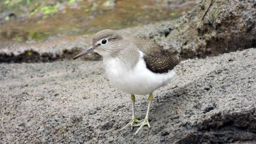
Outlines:
[[175,75],[173,70],[162,74],[148,70],[142,52],[140,52],[140,59],[133,69],[124,67],[118,59],[105,61],[104,66],[110,82],[116,88],[134,95],[150,94],[156,89],[168,85]]

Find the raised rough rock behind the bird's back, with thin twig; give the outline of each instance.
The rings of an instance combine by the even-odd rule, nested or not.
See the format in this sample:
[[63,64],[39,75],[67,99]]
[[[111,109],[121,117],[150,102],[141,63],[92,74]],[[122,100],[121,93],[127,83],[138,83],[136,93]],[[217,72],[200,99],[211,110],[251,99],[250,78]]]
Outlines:
[[[196,26],[212,1],[198,30]],[[256,46],[254,0],[201,0],[177,21],[134,28],[131,33],[151,38],[172,53],[205,57]],[[129,32],[129,31],[128,31]]]

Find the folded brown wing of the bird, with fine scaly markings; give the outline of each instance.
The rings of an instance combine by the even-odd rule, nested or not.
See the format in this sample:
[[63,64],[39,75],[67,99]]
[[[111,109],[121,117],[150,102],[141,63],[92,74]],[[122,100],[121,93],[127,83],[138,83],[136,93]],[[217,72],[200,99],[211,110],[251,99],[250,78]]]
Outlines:
[[154,73],[168,73],[180,63],[180,56],[170,56],[156,42],[147,39],[134,39],[135,45],[143,52],[146,66]]

